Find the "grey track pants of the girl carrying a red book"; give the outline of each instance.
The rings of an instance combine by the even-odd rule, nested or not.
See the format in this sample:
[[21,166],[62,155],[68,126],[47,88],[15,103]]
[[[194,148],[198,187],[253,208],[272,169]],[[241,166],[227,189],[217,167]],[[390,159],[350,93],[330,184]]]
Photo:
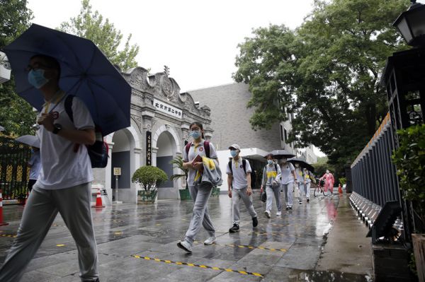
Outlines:
[[215,236],[215,228],[212,224],[210,213],[208,213],[208,199],[212,192],[212,184],[203,182],[197,186],[189,186],[191,197],[193,199],[193,216],[191,224],[186,232],[185,240],[191,244],[195,240],[196,234],[200,230],[202,224],[210,236]]

